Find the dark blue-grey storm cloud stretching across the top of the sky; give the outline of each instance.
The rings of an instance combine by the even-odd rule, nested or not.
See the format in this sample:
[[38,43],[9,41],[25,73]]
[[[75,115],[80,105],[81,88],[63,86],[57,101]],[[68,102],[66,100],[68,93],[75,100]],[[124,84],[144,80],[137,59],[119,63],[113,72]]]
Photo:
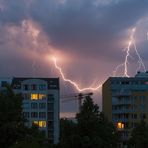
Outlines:
[[127,37],[126,29],[148,12],[147,0],[100,5],[95,0],[5,0],[4,5],[6,9],[0,13],[3,23],[32,18],[48,33],[53,46],[90,57],[112,55],[113,59],[113,51]]

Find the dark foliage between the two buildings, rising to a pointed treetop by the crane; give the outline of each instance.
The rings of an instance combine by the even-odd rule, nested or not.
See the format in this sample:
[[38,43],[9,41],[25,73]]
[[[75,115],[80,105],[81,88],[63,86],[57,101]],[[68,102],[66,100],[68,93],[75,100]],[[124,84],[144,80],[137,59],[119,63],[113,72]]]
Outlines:
[[60,148],[116,148],[118,134],[92,98],[86,97],[77,122],[61,120]]

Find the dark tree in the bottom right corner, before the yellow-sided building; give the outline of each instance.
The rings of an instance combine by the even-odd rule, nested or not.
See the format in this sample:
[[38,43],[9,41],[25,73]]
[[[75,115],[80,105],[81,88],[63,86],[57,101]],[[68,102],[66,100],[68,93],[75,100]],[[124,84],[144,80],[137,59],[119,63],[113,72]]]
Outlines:
[[148,148],[148,124],[144,120],[133,129],[131,138],[129,139],[129,146],[134,148]]

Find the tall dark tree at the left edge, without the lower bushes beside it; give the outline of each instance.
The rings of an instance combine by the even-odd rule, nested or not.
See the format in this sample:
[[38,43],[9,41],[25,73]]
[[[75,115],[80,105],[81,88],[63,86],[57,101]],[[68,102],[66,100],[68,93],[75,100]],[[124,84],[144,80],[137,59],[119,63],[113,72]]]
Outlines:
[[18,138],[18,130],[23,126],[22,97],[15,95],[10,87],[0,94],[0,145],[12,145]]

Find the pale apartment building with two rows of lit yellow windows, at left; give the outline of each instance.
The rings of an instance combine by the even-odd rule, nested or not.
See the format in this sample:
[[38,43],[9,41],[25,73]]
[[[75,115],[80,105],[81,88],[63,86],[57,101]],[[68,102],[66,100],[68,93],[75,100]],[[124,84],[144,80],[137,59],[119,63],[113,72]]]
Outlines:
[[36,124],[50,143],[59,142],[59,78],[1,78],[0,88],[10,84],[23,96],[26,126]]

